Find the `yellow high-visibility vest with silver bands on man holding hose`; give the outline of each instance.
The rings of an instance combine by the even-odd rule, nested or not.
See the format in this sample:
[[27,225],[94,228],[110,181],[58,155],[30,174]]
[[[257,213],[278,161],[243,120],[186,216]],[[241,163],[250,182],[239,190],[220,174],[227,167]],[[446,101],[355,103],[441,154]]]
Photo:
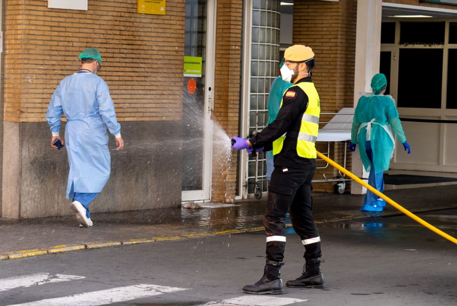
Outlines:
[[[311,82],[300,82],[291,86],[289,90],[294,86],[300,87],[308,96],[308,107],[301,118],[300,132],[297,137],[297,154],[304,158],[316,158],[315,143],[319,131],[319,115],[321,113],[319,95],[316,87]],[[281,109],[282,106],[283,100],[281,100],[279,108]],[[281,152],[286,137],[287,133],[273,141],[273,155]]]

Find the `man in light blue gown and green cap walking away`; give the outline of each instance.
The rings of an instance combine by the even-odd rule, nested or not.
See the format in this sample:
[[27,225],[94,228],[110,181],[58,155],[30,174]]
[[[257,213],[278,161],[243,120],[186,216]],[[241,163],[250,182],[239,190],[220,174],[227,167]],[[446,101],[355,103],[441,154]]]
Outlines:
[[81,68],[65,77],[52,95],[46,113],[51,129],[51,146],[60,136],[61,117],[65,114],[65,139],[68,154],[66,198],[72,199],[72,209],[80,226],[92,226],[89,204],[108,181],[111,157],[108,150],[109,132],[114,135],[117,150],[124,148],[121,125],[116,120],[108,85],[98,75],[101,55],[88,48],[80,55]]

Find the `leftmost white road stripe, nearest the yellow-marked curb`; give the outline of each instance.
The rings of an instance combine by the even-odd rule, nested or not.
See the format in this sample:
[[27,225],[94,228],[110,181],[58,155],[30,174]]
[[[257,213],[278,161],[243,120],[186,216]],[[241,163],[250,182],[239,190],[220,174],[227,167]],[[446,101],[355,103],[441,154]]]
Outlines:
[[58,283],[61,281],[82,279],[84,276],[78,275],[65,275],[65,274],[49,274],[49,273],[36,273],[25,276],[14,276],[9,278],[0,279],[0,291],[11,290],[14,288],[24,288],[47,283]]

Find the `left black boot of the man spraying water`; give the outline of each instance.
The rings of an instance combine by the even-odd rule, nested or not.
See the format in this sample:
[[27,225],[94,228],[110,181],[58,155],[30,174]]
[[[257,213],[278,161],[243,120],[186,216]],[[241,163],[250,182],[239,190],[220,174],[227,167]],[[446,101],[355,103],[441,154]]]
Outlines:
[[283,293],[283,281],[280,269],[283,263],[280,261],[266,261],[262,278],[254,285],[243,287],[243,291],[251,294],[281,294]]

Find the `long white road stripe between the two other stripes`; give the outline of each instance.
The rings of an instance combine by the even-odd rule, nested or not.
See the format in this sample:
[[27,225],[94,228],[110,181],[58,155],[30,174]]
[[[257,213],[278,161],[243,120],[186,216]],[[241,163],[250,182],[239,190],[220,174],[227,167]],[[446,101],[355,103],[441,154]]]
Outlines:
[[107,290],[86,292],[81,294],[70,295],[62,298],[46,299],[24,304],[14,304],[13,306],[62,306],[62,305],[105,305],[110,303],[119,303],[135,299],[141,299],[160,295],[163,293],[172,293],[186,288],[166,287],[158,285],[140,284],[135,286],[116,287]]

